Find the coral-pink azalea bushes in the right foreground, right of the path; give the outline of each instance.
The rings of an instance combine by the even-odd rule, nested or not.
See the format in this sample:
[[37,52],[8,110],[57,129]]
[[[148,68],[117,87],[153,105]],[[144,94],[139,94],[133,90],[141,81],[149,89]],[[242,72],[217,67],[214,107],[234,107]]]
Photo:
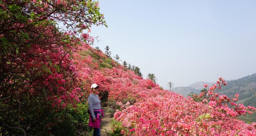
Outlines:
[[122,106],[114,118],[127,128],[124,135],[255,135],[256,124],[246,124],[237,117],[256,109],[237,105],[238,94],[232,99],[219,96],[218,89],[223,85],[225,80],[219,78],[217,85],[209,87],[210,102],[204,99],[199,103],[168,92]]

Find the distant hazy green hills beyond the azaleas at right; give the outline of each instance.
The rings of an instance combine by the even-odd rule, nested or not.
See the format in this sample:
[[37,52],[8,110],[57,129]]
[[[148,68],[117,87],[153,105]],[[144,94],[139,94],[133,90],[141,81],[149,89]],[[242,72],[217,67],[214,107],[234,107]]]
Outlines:
[[[251,91],[251,89],[256,91],[256,73],[237,80],[228,80],[226,82],[227,85],[219,91],[220,94],[227,95],[230,98],[234,97],[234,95],[236,94],[239,94],[239,101],[237,103],[243,103],[245,106],[251,105],[256,107],[256,97]],[[180,95],[183,95],[184,97],[187,97],[190,92],[195,92],[196,94],[199,94],[200,90],[203,89],[203,84],[208,84],[209,86],[211,86],[214,83],[201,81],[191,84],[188,87],[173,88],[173,91]],[[246,117],[240,117],[240,119],[246,122],[255,122],[256,114]]]

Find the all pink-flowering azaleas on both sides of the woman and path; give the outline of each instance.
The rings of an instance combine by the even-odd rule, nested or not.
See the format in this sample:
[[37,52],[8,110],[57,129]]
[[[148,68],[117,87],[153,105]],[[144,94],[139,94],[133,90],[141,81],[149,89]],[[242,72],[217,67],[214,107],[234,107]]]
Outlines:
[[0,7],[0,135],[91,135],[93,83],[114,109],[110,135],[256,135],[256,123],[237,119],[256,109],[236,104],[239,94],[219,95],[223,78],[204,85],[207,94],[195,102],[91,47],[90,27],[108,27],[98,1],[3,0]]

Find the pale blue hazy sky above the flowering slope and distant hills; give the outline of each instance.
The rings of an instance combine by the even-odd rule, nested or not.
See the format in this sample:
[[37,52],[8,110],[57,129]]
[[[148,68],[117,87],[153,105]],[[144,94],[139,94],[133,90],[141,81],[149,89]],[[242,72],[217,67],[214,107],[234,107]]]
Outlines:
[[99,46],[167,87],[256,73],[255,0],[99,0]]

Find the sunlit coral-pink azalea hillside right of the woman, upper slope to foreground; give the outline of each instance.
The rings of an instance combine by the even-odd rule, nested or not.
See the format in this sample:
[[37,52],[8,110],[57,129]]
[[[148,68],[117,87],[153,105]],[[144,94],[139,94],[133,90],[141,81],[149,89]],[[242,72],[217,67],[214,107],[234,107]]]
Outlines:
[[108,63],[106,60],[109,60],[106,55],[90,46],[80,47],[74,53],[78,77],[87,84],[85,86],[97,83],[102,86],[100,91],[108,92],[109,104],[117,109],[114,119],[122,124],[121,134],[256,135],[255,123],[246,124],[236,119],[251,114],[255,108],[237,105],[239,94],[234,98],[219,95],[218,90],[226,85],[223,78],[213,86],[205,85],[208,100],[195,102],[161,89],[113,60]]

